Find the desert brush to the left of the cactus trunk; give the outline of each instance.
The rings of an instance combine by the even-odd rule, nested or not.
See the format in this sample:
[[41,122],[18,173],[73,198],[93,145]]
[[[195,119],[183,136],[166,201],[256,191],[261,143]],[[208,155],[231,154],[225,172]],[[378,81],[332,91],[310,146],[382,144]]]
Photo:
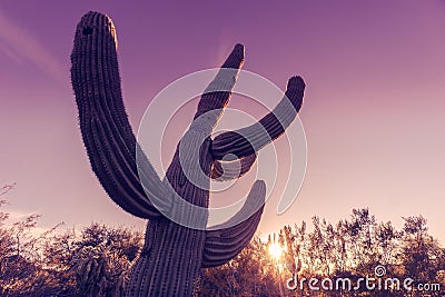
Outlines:
[[0,212],[0,296],[122,295],[140,232],[91,224],[79,235],[57,234],[59,224],[36,236],[39,217],[9,222]]

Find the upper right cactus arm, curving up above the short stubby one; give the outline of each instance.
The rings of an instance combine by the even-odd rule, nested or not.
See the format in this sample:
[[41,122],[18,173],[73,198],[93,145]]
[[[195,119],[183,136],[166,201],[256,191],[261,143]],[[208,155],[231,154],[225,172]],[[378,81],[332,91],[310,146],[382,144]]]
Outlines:
[[[251,126],[224,132],[214,139],[211,146],[214,158],[220,160],[228,154],[244,158],[255,154],[271,140],[283,135],[301,108],[304,90],[305,82],[300,77],[290,78],[287,83],[285,97],[275,107],[273,112],[269,112]],[[265,130],[267,133],[264,132]]]

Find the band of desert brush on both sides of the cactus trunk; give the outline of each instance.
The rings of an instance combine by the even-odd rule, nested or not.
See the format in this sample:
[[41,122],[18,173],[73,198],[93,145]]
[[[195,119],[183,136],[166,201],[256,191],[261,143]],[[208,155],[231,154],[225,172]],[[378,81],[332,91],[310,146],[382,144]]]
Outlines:
[[[0,197],[12,187],[0,189]],[[0,201],[0,208],[7,201]],[[55,228],[36,236],[39,216],[10,222],[0,211],[0,296],[121,296],[142,246],[142,235],[123,227],[91,224],[79,234]],[[303,290],[286,288],[286,280],[310,277],[338,279],[374,276],[383,265],[385,276],[413,278],[417,284],[445,288],[445,249],[428,235],[422,216],[404,218],[397,230],[377,221],[368,209],[354,209],[348,219],[330,224],[313,218],[284,226],[267,240],[254,237],[233,260],[202,269],[195,296],[369,296],[369,291]],[[269,255],[278,244],[284,253]],[[299,285],[299,284],[298,284]],[[375,291],[372,296],[441,296],[441,291]]]

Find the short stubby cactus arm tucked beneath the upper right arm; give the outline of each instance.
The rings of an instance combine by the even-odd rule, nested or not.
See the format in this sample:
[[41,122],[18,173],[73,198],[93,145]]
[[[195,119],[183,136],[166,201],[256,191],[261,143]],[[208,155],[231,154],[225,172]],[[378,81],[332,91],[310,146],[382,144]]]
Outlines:
[[250,170],[256,159],[257,155],[253,154],[235,161],[215,160],[210,178],[217,181],[226,181],[239,178]]

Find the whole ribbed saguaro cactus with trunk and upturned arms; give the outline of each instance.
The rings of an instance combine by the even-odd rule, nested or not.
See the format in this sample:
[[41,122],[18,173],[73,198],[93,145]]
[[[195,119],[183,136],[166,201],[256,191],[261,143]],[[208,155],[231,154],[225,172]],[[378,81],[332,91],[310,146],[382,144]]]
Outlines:
[[[147,179],[144,185],[149,187],[142,187],[136,162],[137,150],[138,154],[142,152],[123,108],[116,30],[109,17],[98,12],[88,12],[82,17],[76,31],[71,62],[71,81],[79,109],[80,129],[92,170],[115,202],[128,212],[149,220],[142,251],[127,284],[127,295],[191,296],[199,269],[227,263],[250,240],[263,212],[266,192],[264,181],[254,184],[245,206],[235,215],[237,218],[245,216],[253,207],[258,208],[241,222],[205,229],[171,221],[164,215],[166,212],[158,210],[165,207],[168,211],[180,211],[171,205],[172,194],[169,188],[181,199],[202,208],[208,208],[209,190],[187,179],[179,160],[180,146],[164,180],[159,179],[146,159],[141,170]],[[208,92],[201,96],[195,120],[206,112],[210,112],[210,116],[199,125],[194,125],[194,121],[181,141],[188,138],[194,142],[202,132],[211,132],[228,103],[243,62],[244,47],[237,44],[224,62],[220,73],[210,83]],[[230,75],[221,75],[222,70],[228,70]],[[218,86],[222,86],[222,91]],[[186,147],[185,154],[199,154],[199,167],[205,172],[201,181],[209,186],[211,178],[237,178],[247,172],[256,160],[256,150],[276,139],[287,128],[280,123],[277,115],[290,121],[296,117],[301,107],[304,88],[303,79],[293,77],[281,100],[290,101],[293,108],[283,108],[280,102],[276,112],[265,116],[243,131],[224,132],[215,139],[207,135],[198,148]],[[258,133],[258,125],[267,130],[267,137]],[[246,136],[255,138],[260,145],[254,148]],[[222,158],[228,154],[240,160],[241,168],[235,170],[235,174],[229,169],[222,170],[226,168],[221,166]],[[154,206],[155,200],[157,207]],[[206,225],[206,216],[198,219]]]

